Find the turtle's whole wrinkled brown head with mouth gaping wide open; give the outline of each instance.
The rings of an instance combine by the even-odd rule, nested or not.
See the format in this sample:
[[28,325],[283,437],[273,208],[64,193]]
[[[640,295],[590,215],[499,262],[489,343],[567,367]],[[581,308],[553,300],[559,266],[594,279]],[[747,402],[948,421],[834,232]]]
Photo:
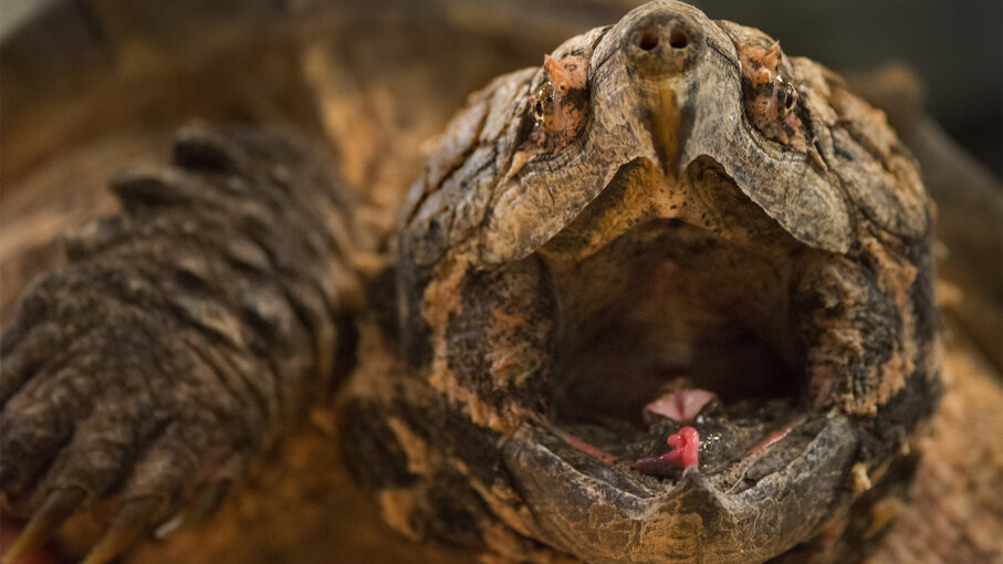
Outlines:
[[[884,116],[774,43],[652,2],[551,53],[588,62],[560,143],[545,67],[455,117],[403,216],[407,373],[353,411],[407,437],[368,451],[407,459],[376,485],[398,529],[588,562],[845,562],[880,537],[939,397],[930,203]],[[682,425],[640,417],[666,386],[720,401],[699,466],[645,476]]]

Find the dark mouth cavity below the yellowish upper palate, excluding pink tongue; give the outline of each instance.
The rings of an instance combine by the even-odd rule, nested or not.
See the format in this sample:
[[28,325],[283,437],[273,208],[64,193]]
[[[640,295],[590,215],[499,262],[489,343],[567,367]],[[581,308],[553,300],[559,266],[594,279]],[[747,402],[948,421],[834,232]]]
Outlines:
[[[817,431],[791,311],[798,246],[746,243],[654,219],[572,265],[548,261],[562,311],[550,416],[574,449],[657,489],[673,477],[641,476],[634,461],[667,452],[689,425],[700,471],[733,490]],[[646,412],[691,389],[717,396],[692,419]]]

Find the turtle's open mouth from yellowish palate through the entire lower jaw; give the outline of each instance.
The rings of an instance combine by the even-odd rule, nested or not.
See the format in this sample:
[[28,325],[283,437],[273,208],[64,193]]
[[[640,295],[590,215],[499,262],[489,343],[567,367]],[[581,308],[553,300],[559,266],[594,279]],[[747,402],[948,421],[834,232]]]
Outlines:
[[851,286],[817,275],[837,255],[711,158],[679,178],[621,167],[536,255],[557,304],[551,401],[502,457],[555,544],[596,562],[751,562],[817,531],[859,448],[838,376],[815,364],[826,331],[854,331],[830,307]]

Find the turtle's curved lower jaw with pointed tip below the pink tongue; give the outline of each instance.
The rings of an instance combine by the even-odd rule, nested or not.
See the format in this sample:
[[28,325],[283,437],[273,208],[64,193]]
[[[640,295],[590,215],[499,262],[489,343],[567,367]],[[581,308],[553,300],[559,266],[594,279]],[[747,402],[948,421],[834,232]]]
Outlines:
[[[657,480],[603,461],[547,424],[525,422],[502,447],[505,470],[548,544],[587,562],[760,562],[811,537],[847,495],[850,421],[819,415],[784,438],[779,468],[682,471]],[[572,441],[573,442],[573,441]],[[764,452],[755,460],[769,460]],[[755,473],[756,470],[762,474]],[[731,477],[731,478],[730,478]]]

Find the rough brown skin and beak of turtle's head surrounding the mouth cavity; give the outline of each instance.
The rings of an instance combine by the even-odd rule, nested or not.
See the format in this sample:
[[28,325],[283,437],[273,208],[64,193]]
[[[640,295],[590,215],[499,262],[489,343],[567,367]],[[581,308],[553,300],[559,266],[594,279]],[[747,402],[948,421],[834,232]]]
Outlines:
[[[412,188],[400,236],[411,374],[362,384],[345,411],[372,425],[399,420],[429,452],[420,472],[370,483],[385,512],[393,505],[408,523],[446,528],[407,532],[456,539],[452,528],[473,522],[464,533],[491,550],[527,557],[520,543],[530,537],[591,562],[762,561],[798,543],[798,557],[832,556],[850,551],[859,533],[847,529],[842,547],[807,541],[836,526],[834,514],[866,511],[911,474],[916,458],[903,452],[940,388],[919,176],[881,116],[805,60],[783,63],[804,93],[802,143],[785,148],[760,136],[785,145],[794,130],[791,139],[750,130],[750,119],[766,123],[742,104],[741,53],[771,43],[685,4],[652,2],[565,42],[542,70],[498,79],[455,118]],[[781,54],[770,53],[775,70]],[[581,133],[556,147],[526,139],[546,124],[532,93],[553,81],[553,61],[583,59],[591,64]],[[602,275],[648,272],[659,259],[639,251],[647,246],[699,244],[717,255],[693,228],[680,229],[682,241],[635,239],[651,224],[660,232],[662,219],[733,242],[714,251],[725,257],[752,248],[774,253],[766,270],[790,269],[781,281],[790,302],[776,305],[793,327],[780,338],[797,351],[815,409],[828,416],[795,462],[742,491],[719,492],[697,472],[671,493],[649,491],[629,472],[598,478],[605,473],[562,455],[550,431],[560,351],[575,343],[567,335],[592,330],[598,321],[588,309],[623,292]],[[603,259],[606,248],[617,258]],[[738,257],[727,267],[700,257],[669,261],[688,275],[758,276]],[[717,292],[730,295],[725,288]],[[742,307],[738,297],[725,303]],[[348,432],[358,443],[349,463],[369,476],[395,468],[404,438],[394,437]],[[866,485],[847,492],[855,474]],[[439,489],[459,483],[472,489],[443,504]],[[499,529],[508,534],[498,539]]]

